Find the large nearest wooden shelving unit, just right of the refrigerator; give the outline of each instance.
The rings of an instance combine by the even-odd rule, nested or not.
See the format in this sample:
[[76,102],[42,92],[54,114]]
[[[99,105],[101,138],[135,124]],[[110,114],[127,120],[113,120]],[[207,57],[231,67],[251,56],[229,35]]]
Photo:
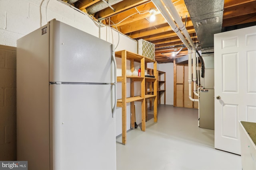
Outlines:
[[[116,51],[115,55],[116,57],[119,57],[122,59],[122,76],[117,77],[117,81],[122,82],[122,98],[117,100],[117,107],[122,107],[122,144],[126,145],[126,104],[130,102],[131,129],[134,129],[134,122],[135,122],[134,102],[141,102],[142,131],[146,130],[146,108],[145,108],[146,99],[152,98],[154,100],[154,106],[157,106],[156,78],[147,78],[145,77],[145,72],[144,72],[144,70],[146,69],[145,65],[147,65],[146,63],[154,63],[154,68],[156,69],[156,61],[143,57],[142,55],[138,55],[138,54],[126,51],[126,50]],[[126,76],[127,60],[130,61],[130,69],[132,72],[135,70],[134,62],[140,63],[140,68],[141,68],[140,77]],[[156,76],[157,75],[155,75],[155,77]],[[127,94],[126,94],[127,78],[130,78],[130,97],[127,97]],[[155,82],[154,94],[146,94],[145,92],[145,82],[148,81],[149,79],[154,80]],[[140,85],[141,85],[140,96],[134,96],[134,82],[140,82]],[[157,122],[157,107],[154,107],[154,122]]]

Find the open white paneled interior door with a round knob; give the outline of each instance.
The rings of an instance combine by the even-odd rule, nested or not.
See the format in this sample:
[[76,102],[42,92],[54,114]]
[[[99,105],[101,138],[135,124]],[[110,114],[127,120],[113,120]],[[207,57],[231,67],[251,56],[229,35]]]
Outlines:
[[215,148],[240,154],[238,121],[256,122],[256,26],[214,35],[214,82]]

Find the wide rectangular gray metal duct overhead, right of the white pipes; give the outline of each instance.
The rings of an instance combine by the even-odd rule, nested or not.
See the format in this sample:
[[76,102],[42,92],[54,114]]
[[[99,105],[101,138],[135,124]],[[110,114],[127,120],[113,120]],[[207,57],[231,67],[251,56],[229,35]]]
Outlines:
[[214,34],[222,29],[224,0],[184,0],[201,48],[214,47]]

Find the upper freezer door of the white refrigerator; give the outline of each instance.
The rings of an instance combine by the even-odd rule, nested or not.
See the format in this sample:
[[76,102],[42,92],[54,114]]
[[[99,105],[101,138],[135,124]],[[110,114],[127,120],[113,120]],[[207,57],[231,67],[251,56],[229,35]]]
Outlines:
[[50,33],[50,82],[111,83],[111,43],[56,20]]

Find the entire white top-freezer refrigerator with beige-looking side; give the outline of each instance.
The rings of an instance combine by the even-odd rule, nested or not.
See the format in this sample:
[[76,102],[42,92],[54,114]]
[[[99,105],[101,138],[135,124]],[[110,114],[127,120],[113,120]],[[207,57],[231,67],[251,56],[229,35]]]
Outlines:
[[57,20],[17,41],[17,160],[116,169],[114,46]]

